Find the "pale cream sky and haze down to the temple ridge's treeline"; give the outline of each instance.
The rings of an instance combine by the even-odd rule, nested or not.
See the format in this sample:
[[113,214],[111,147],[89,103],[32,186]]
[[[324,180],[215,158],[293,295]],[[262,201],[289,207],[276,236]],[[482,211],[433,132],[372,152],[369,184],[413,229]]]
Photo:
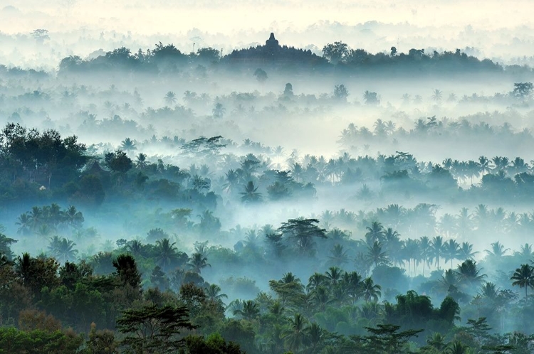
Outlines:
[[[146,50],[159,41],[185,53],[193,43],[229,53],[274,32],[281,44],[318,54],[343,41],[371,53],[461,48],[533,65],[533,13],[534,0],[0,0],[0,63],[55,68],[67,55]],[[50,33],[45,47],[31,41],[36,28]]]

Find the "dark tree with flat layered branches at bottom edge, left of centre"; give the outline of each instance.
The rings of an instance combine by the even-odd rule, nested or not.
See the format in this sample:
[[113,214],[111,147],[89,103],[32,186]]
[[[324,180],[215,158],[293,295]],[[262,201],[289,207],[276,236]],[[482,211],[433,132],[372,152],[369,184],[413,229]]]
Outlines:
[[197,328],[189,322],[184,306],[143,306],[128,309],[117,320],[117,329],[125,335],[122,345],[135,353],[175,353],[184,346],[182,331]]

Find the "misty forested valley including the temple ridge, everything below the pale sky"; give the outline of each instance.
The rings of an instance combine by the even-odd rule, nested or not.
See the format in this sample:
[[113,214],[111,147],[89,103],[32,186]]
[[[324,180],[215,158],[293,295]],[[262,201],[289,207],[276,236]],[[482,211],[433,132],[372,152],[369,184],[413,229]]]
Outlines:
[[533,69],[275,35],[0,65],[0,353],[534,352]]

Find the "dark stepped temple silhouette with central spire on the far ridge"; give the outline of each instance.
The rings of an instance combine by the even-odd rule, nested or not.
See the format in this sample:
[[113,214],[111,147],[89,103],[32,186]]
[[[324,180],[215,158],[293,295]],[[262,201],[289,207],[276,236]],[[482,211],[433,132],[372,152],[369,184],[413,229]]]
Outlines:
[[273,32],[271,32],[268,40],[265,41],[265,45],[234,50],[229,55],[226,55],[224,60],[227,63],[245,65],[251,68],[274,66],[277,68],[290,68],[292,71],[328,64],[327,60],[313,54],[311,50],[280,45]]

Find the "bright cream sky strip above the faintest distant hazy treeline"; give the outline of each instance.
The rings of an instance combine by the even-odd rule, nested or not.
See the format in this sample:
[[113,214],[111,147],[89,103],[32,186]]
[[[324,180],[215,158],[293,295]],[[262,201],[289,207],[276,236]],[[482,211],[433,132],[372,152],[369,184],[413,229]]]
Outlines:
[[530,16],[534,10],[532,0],[1,0],[0,9],[4,20],[0,31],[4,33],[24,33],[39,27],[66,31],[87,26],[143,34],[177,33],[191,28],[228,34],[248,29],[302,31],[318,21],[495,29],[530,26],[534,21]]

